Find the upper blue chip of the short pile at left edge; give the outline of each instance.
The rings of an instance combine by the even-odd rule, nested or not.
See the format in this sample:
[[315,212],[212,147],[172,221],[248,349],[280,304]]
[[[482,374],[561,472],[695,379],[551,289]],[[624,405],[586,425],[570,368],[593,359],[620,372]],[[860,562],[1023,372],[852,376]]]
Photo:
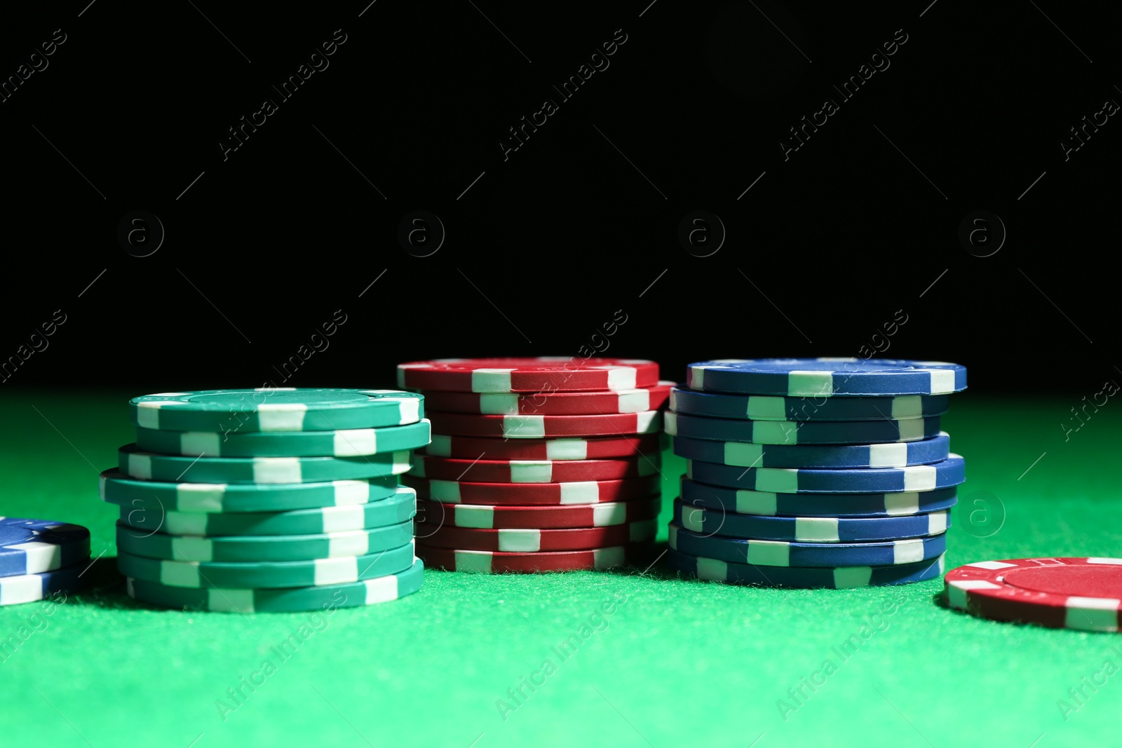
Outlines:
[[45,519],[0,517],[0,576],[38,574],[90,557],[90,530]]

